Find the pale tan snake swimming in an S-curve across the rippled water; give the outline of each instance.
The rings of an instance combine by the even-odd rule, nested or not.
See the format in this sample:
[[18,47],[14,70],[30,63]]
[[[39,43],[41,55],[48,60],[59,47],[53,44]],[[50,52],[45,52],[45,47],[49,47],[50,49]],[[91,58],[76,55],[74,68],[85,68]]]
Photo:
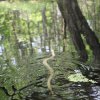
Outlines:
[[52,60],[55,57],[55,52],[54,52],[53,49],[51,49],[51,54],[52,54],[52,56],[50,56],[49,58],[45,58],[43,60],[43,64],[45,65],[46,69],[49,71],[49,77],[48,77],[48,80],[47,80],[47,86],[48,86],[48,89],[51,92],[51,94],[53,94],[53,90],[52,90],[52,86],[51,86],[51,80],[52,80],[53,75],[54,75],[54,70],[48,64],[48,60]]

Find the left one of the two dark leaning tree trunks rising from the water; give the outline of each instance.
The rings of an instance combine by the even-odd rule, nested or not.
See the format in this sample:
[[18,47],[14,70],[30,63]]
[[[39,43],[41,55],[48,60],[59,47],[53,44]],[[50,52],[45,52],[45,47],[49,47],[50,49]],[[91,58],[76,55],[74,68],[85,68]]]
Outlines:
[[72,41],[75,45],[75,48],[76,48],[78,54],[80,55],[80,60],[85,62],[88,59],[88,55],[87,55],[87,52],[85,50],[85,45],[84,45],[83,40],[81,38],[80,31],[75,26],[71,16],[67,12],[65,2],[66,2],[66,0],[63,0],[63,1],[58,0],[58,6],[59,6],[59,9],[62,13],[64,20],[66,21],[68,29],[71,33],[71,38],[72,38]]

